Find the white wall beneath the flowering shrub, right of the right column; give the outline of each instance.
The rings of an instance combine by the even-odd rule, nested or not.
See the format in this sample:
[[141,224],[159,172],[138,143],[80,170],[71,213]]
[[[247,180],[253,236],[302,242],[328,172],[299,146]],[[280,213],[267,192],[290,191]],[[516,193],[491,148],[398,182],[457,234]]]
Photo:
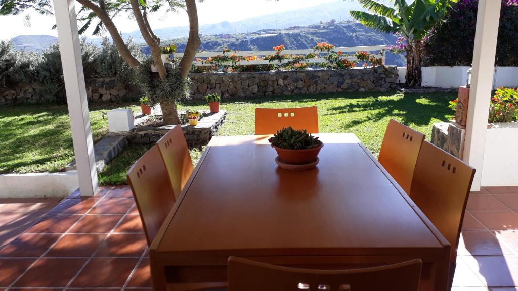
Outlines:
[[518,186],[518,122],[487,129],[481,186]]

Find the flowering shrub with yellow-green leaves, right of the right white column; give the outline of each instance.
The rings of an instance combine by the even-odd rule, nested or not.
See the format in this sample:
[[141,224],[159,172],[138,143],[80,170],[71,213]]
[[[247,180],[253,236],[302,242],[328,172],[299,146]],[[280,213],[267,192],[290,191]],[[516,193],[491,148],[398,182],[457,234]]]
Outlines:
[[500,87],[491,98],[489,122],[511,121],[518,121],[518,92]]

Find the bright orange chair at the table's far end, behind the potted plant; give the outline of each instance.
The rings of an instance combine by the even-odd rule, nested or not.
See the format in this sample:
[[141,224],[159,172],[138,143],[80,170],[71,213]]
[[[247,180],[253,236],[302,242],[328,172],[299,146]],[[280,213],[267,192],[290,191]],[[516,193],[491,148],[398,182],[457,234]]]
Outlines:
[[291,126],[306,129],[309,134],[319,133],[316,106],[300,108],[255,108],[255,134],[271,135],[277,130]]

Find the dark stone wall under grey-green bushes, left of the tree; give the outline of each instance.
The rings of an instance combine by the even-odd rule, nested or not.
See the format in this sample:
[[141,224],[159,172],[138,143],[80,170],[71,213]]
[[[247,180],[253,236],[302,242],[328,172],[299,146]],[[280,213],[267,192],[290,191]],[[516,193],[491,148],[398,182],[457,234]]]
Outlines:
[[[125,85],[115,78],[85,80],[87,97],[93,102],[125,101],[141,96],[136,86]],[[38,93],[37,83],[24,84],[18,88],[0,89],[0,106],[17,103],[42,103],[45,100]]]

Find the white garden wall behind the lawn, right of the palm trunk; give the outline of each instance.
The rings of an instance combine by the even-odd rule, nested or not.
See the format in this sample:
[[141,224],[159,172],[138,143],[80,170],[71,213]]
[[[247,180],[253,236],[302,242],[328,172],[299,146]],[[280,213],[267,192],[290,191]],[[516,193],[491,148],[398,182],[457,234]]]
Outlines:
[[[421,77],[423,87],[458,88],[468,81],[469,66],[455,67],[422,67]],[[493,89],[500,86],[518,87],[518,67],[496,67]]]

